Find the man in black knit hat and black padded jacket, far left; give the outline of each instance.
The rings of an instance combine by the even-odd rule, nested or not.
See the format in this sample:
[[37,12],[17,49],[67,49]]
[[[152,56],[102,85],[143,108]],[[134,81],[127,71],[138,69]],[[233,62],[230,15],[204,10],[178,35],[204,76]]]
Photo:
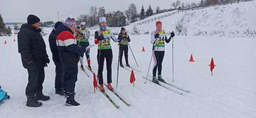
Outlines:
[[39,107],[42,105],[38,100],[49,100],[44,96],[43,81],[44,67],[50,60],[46,53],[46,44],[40,32],[40,19],[34,15],[28,15],[26,24],[23,24],[18,33],[18,53],[21,54],[22,65],[28,71],[28,84],[26,96],[28,107]]

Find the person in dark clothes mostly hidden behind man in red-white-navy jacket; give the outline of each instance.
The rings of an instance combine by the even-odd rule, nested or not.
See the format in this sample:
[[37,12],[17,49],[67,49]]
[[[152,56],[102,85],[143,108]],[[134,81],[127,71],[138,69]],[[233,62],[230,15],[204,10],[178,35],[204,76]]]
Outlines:
[[64,95],[65,94],[65,85],[64,85],[64,66],[59,58],[59,52],[56,45],[56,29],[57,27],[62,24],[62,22],[56,22],[54,25],[54,29],[49,35],[49,45],[50,50],[52,52],[52,58],[55,67],[55,94]]

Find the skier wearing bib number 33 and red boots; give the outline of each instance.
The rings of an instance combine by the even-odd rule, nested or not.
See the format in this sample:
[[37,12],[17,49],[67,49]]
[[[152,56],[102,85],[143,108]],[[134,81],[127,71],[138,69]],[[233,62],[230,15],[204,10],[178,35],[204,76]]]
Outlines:
[[97,60],[98,60],[98,79],[99,79],[99,85],[100,90],[105,91],[103,87],[103,65],[104,60],[106,58],[106,64],[107,64],[107,86],[108,89],[113,90],[113,87],[111,86],[112,83],[112,59],[113,59],[113,53],[111,49],[111,38],[114,42],[118,42],[119,40],[114,37],[114,34],[107,30],[107,21],[105,17],[100,17],[100,29],[95,31],[94,35],[94,43],[98,44],[98,54],[97,54]]

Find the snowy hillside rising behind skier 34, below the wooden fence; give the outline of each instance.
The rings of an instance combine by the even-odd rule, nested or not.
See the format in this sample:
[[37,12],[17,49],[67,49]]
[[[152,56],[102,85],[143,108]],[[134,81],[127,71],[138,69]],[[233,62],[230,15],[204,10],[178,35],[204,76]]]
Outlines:
[[[256,1],[239,2],[239,4],[214,6],[200,10],[185,11],[161,18],[162,29],[167,32],[175,31],[175,25],[182,22],[180,35],[187,36],[224,36],[224,37],[255,37],[256,36]],[[150,16],[144,20],[125,26],[133,33],[133,26],[139,22],[154,17],[169,14],[165,12]],[[156,22],[156,21],[155,21]],[[151,33],[155,30],[155,22],[138,25],[140,34]],[[119,32],[121,27],[111,27],[113,32]],[[176,32],[178,34],[178,32]]]

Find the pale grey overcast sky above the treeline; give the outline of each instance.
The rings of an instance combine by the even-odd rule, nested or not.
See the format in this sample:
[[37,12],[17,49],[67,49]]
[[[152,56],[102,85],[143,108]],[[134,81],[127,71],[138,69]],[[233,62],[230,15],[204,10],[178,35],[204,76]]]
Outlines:
[[[142,5],[146,10],[149,4],[155,10],[156,6],[160,9],[171,8],[171,2],[176,0],[0,0],[0,14],[4,22],[27,22],[27,16],[36,15],[41,21],[66,20],[69,15],[75,17],[79,14],[88,14],[91,6],[105,7],[106,12],[124,11],[131,3],[140,12]],[[200,0],[181,0],[181,2],[199,3]]]

